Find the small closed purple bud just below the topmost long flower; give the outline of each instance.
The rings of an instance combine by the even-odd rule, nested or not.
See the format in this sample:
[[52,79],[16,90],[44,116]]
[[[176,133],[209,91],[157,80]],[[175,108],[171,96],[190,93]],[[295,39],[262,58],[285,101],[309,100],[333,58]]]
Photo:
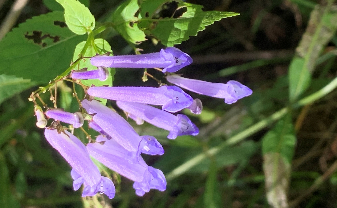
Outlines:
[[109,77],[109,71],[106,68],[98,67],[96,70],[88,71],[88,68],[83,68],[81,70],[72,70],[70,73],[72,79],[98,79],[99,81],[105,81]]

